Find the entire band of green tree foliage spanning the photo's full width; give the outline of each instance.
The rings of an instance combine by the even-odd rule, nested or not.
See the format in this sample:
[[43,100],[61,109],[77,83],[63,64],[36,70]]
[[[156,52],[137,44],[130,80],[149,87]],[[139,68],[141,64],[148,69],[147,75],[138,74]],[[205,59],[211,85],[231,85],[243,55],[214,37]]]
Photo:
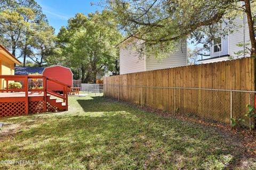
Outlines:
[[[211,44],[235,30],[234,20],[245,13],[250,33],[246,53],[256,56],[253,1],[106,0],[102,4],[106,7],[102,12],[77,13],[56,36],[35,0],[0,0],[1,44],[23,58],[24,66],[61,64],[71,67],[76,79],[95,82],[107,72],[118,74],[117,44],[124,37],[139,40],[140,45],[133,44],[141,56],[163,58],[188,38]],[[196,64],[196,58],[206,55],[205,49],[189,50],[189,55]]]

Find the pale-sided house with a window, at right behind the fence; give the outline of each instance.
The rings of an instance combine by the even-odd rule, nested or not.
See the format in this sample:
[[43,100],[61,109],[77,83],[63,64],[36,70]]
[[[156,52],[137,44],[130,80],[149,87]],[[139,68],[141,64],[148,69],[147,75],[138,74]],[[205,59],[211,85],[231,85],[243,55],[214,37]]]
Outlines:
[[[241,18],[237,18],[235,23],[237,24],[237,29],[233,33],[229,33],[226,37],[219,37],[217,41],[214,41],[210,47],[210,57],[199,60],[199,63],[213,63],[250,56],[246,53],[245,45],[242,47],[237,46],[238,43],[250,43],[245,14]],[[242,54],[238,56],[235,54],[237,52],[242,52]]]

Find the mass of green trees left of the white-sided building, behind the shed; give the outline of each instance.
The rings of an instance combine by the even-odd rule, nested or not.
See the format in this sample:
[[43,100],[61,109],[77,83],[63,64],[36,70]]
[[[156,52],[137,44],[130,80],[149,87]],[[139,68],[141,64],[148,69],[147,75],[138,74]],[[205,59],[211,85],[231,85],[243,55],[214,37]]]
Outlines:
[[0,40],[23,66],[61,64],[71,67],[76,79],[119,72],[116,45],[121,39],[109,11],[77,13],[61,27],[58,36],[35,0],[0,0]]

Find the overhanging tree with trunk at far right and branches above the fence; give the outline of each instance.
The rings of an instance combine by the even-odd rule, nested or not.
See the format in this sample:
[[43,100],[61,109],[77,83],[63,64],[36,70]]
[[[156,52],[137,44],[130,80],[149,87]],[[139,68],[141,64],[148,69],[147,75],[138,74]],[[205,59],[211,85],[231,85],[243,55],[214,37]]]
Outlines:
[[[242,3],[245,3],[245,8]],[[250,0],[108,0],[107,8],[116,15],[120,27],[143,40],[146,53],[165,54],[183,38],[211,43],[234,28],[233,20],[245,11],[249,23],[252,56],[256,54],[254,15]]]

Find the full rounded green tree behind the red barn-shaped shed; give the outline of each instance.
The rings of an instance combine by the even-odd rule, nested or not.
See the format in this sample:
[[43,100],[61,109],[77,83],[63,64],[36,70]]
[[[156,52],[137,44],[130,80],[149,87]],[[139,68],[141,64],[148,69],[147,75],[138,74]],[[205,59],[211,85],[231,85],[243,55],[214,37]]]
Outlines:
[[102,11],[89,16],[76,14],[69,19],[67,28],[61,28],[58,39],[71,67],[81,70],[82,82],[96,82],[97,75],[115,63],[115,46],[121,34],[111,13]]

